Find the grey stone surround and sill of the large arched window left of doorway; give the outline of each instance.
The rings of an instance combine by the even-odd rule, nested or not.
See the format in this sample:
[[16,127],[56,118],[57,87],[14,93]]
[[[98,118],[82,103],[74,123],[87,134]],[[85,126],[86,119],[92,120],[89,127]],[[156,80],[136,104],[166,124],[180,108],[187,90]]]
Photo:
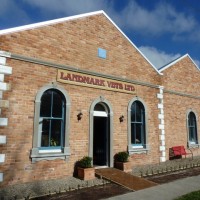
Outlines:
[[[65,98],[65,131],[64,131],[64,144],[62,149],[60,148],[41,148],[41,133],[40,133],[40,105],[41,105],[41,97],[44,94],[45,91],[49,89],[55,89],[58,90],[63,94],[63,97]],[[65,91],[65,89],[61,86],[58,86],[55,83],[45,85],[44,87],[40,88],[39,91],[36,94],[35,98],[35,116],[34,116],[34,135],[33,135],[33,148],[31,150],[31,159],[32,162],[40,161],[40,160],[54,160],[54,159],[64,159],[68,160],[70,156],[70,147],[69,147],[69,123],[70,123],[70,98]]]

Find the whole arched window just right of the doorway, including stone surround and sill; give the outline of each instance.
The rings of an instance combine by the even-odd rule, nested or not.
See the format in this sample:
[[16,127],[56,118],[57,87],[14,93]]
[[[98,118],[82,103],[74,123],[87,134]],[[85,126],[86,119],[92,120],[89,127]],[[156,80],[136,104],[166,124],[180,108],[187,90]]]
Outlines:
[[146,109],[139,98],[128,106],[128,149],[129,153],[147,151]]

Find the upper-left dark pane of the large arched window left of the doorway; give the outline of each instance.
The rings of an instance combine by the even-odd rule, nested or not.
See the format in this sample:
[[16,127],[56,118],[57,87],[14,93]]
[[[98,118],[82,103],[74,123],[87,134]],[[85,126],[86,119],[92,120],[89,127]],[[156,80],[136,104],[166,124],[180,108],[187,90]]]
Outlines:
[[51,117],[51,93],[51,90],[47,90],[42,95],[40,117]]

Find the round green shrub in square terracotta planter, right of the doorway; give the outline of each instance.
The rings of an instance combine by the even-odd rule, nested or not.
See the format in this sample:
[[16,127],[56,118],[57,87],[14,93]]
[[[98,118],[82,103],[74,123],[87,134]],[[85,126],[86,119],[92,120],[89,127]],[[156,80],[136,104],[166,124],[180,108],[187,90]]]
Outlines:
[[115,168],[120,169],[124,172],[131,172],[132,166],[129,162],[129,154],[126,151],[119,152],[114,156]]

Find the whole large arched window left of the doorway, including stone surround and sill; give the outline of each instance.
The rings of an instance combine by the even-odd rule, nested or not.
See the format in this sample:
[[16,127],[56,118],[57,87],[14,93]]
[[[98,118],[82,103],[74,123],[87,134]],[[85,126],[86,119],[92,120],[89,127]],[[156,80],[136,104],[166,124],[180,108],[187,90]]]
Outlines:
[[69,157],[69,110],[70,99],[62,87],[52,84],[38,91],[32,162]]

